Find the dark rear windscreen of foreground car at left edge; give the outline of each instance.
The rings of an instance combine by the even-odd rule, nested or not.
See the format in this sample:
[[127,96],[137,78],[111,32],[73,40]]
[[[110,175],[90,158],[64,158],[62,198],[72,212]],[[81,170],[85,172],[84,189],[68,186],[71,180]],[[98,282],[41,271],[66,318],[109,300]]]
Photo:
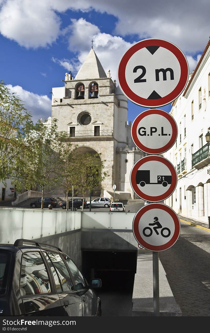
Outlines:
[[11,255],[7,251],[0,252],[0,295],[5,294],[8,273],[9,273],[9,265],[10,265]]

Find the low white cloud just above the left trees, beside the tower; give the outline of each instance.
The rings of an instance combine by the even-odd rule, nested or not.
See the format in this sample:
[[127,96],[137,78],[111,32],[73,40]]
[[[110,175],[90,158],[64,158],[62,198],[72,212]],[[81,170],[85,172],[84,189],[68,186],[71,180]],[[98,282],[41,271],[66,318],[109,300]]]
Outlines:
[[37,122],[42,118],[44,121],[51,116],[51,99],[47,95],[38,95],[24,90],[20,86],[7,85],[12,93],[16,93],[17,96],[23,101],[24,107],[31,112],[33,116],[33,122]]

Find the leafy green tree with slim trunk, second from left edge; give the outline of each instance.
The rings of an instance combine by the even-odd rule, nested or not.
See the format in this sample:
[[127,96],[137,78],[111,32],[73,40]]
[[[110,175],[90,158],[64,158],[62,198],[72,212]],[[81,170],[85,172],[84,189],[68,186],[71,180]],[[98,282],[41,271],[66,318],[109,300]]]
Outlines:
[[[63,134],[57,132],[57,119],[50,127],[38,121],[24,140],[23,153],[19,154],[16,165],[16,185],[31,189],[40,186],[43,193],[47,187],[55,187],[59,183],[60,146]],[[22,164],[20,166],[20,160]]]

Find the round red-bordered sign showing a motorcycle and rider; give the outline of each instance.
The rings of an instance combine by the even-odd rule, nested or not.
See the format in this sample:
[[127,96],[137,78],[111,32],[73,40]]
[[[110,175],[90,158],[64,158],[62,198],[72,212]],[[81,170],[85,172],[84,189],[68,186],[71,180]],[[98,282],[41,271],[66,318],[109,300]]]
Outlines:
[[164,251],[175,244],[180,235],[180,221],[175,211],[162,203],[142,207],[133,218],[133,235],[142,247]]

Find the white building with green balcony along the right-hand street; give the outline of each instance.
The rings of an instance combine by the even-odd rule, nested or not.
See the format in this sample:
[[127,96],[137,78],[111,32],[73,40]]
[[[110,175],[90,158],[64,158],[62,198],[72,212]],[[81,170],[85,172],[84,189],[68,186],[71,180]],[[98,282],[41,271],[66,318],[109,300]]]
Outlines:
[[170,114],[178,137],[164,157],[176,167],[178,183],[165,203],[178,214],[208,223],[210,154],[205,135],[210,131],[210,40]]

